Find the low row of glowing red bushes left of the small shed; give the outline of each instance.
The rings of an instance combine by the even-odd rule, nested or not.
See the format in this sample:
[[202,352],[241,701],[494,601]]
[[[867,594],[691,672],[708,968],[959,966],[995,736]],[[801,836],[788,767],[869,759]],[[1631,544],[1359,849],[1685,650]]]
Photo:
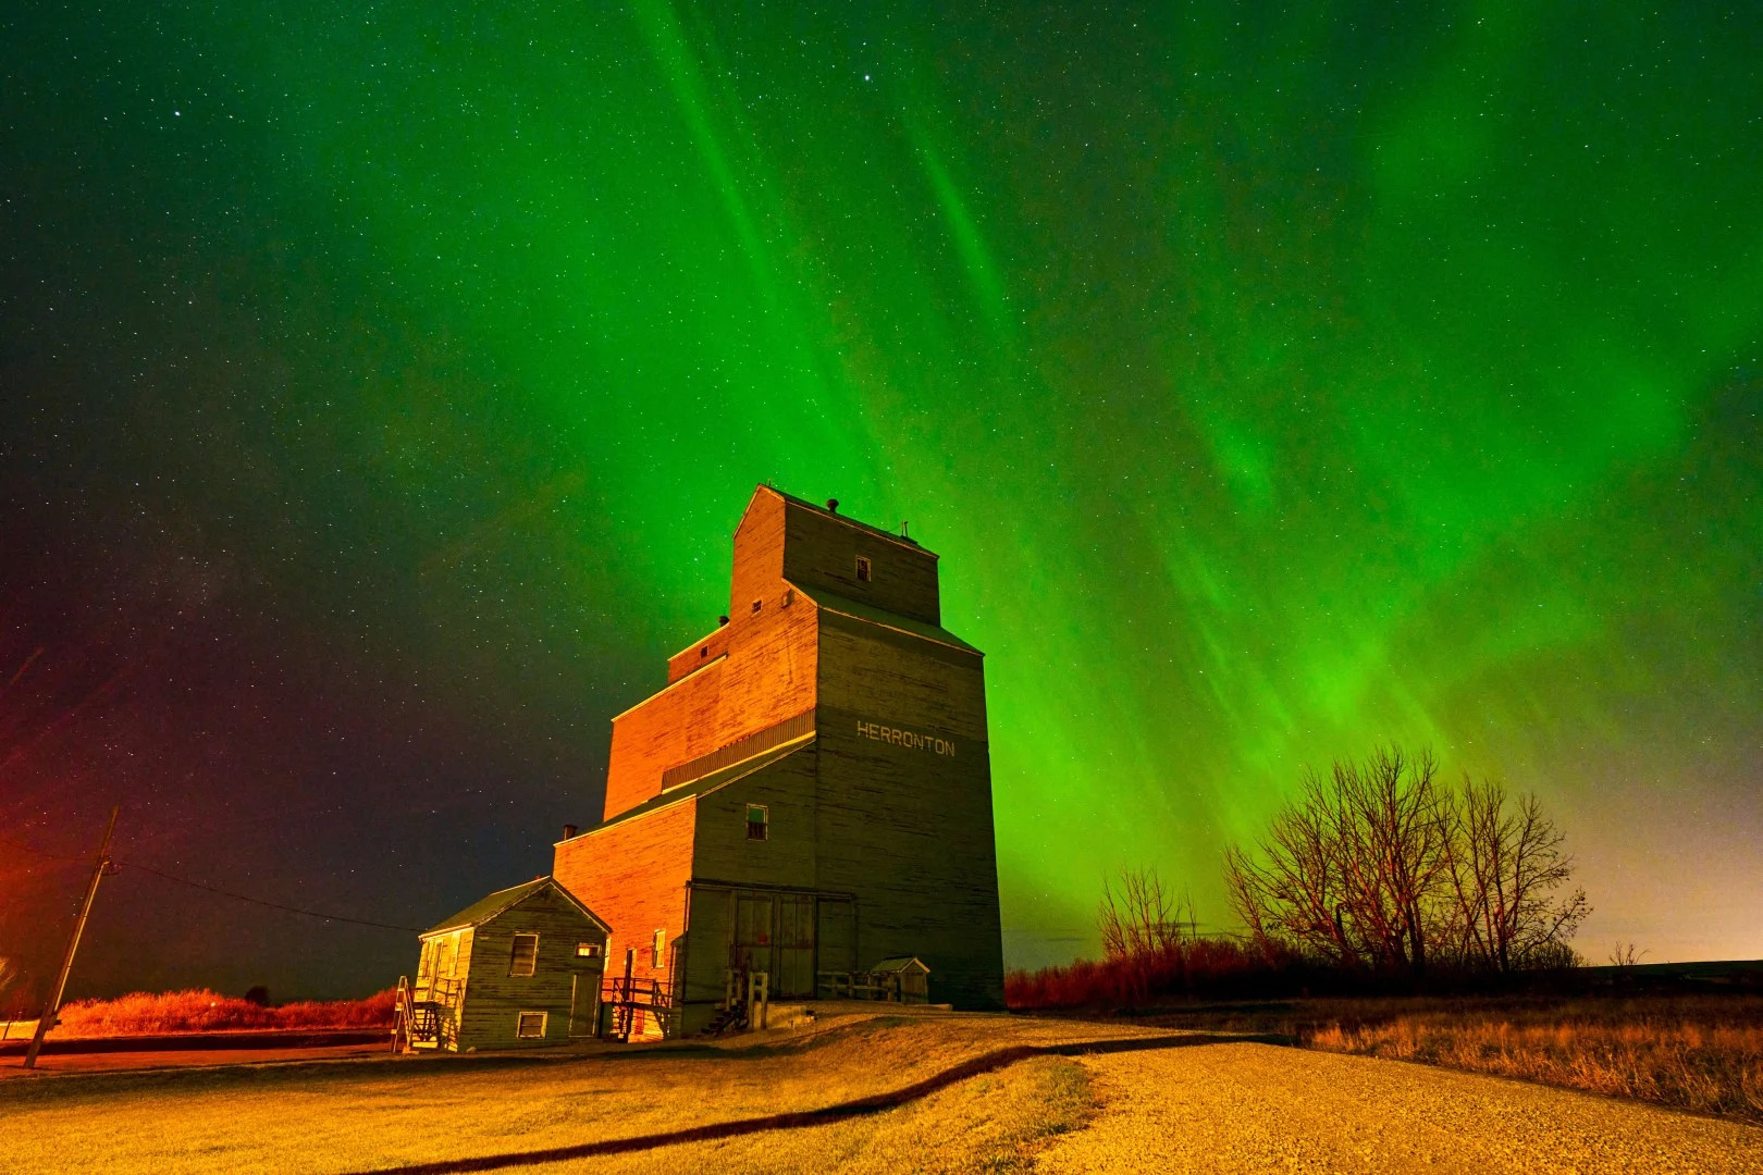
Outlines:
[[391,1002],[390,988],[367,999],[300,1001],[280,1008],[208,990],[134,992],[67,1004],[56,1036],[390,1027]]

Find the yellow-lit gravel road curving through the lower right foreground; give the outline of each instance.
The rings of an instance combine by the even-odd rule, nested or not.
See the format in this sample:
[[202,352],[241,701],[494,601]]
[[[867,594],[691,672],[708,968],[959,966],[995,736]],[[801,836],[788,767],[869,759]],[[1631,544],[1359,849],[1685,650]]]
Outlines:
[[1763,1171],[1763,1129],[1419,1064],[1216,1045],[1084,1057],[1037,1171]]

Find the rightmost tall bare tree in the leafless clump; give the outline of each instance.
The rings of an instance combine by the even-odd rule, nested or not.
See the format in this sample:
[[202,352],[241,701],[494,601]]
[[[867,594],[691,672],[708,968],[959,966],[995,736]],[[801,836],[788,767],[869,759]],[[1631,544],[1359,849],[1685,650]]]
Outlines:
[[1463,779],[1446,842],[1463,962],[1511,972],[1562,957],[1592,913],[1585,890],[1555,895],[1573,877],[1566,840],[1534,794],[1509,803],[1502,784]]

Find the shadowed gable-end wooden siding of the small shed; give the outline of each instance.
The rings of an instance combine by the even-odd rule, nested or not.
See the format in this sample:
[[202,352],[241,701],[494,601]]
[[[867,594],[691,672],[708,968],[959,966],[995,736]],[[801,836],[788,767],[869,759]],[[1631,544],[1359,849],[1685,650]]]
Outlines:
[[[531,976],[508,974],[517,934],[539,935],[538,960]],[[564,1043],[569,1034],[575,976],[598,983],[603,965],[599,958],[577,958],[577,942],[605,944],[605,934],[552,886],[480,923],[471,932],[458,1048],[464,1052]],[[522,1011],[547,1013],[543,1038],[517,1036],[515,1024]]]

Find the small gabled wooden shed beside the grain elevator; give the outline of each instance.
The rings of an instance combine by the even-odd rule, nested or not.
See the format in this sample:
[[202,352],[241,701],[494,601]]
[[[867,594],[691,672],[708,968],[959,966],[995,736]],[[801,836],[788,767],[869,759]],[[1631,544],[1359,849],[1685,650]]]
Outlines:
[[414,1001],[432,1048],[525,1048],[594,1036],[610,927],[554,877],[497,890],[421,934]]

